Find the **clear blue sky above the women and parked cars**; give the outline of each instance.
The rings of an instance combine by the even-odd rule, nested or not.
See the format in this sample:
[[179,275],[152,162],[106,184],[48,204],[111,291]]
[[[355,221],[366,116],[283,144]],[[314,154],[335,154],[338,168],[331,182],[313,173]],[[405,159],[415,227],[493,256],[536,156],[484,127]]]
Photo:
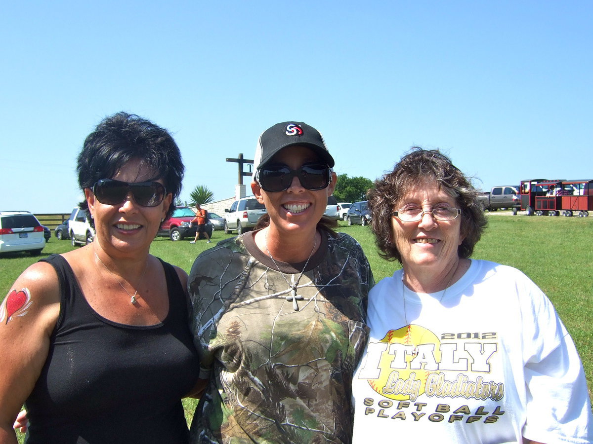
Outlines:
[[106,115],[168,128],[183,200],[232,197],[274,123],[375,179],[414,145],[477,186],[593,179],[591,1],[26,1],[0,15],[0,210],[69,213]]

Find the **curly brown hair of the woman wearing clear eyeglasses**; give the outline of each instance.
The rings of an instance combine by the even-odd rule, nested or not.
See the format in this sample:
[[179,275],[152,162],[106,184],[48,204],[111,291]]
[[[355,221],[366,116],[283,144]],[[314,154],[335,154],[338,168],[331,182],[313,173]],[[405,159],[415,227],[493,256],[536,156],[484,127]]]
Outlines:
[[400,252],[392,242],[391,213],[410,189],[426,179],[436,181],[439,189],[448,192],[461,208],[461,235],[465,237],[457,249],[460,258],[469,258],[482,237],[487,220],[477,201],[478,192],[468,178],[439,150],[415,146],[368,192],[371,227],[382,258],[401,263]]

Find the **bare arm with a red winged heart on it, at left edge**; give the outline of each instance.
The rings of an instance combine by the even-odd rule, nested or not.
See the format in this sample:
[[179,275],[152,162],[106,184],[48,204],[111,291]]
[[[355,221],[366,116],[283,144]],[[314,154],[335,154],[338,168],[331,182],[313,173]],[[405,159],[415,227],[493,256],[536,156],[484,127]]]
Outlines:
[[11,430],[47,359],[58,320],[55,269],[37,262],[21,274],[0,307],[0,427]]

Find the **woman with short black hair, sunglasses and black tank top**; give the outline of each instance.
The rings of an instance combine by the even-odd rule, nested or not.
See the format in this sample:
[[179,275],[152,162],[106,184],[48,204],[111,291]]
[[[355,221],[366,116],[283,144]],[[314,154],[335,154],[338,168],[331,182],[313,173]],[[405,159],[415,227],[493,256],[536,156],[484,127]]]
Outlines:
[[78,156],[94,242],[21,274],[0,311],[0,443],[185,443],[181,398],[199,362],[187,328],[187,275],[149,255],[184,167],[166,130],[105,118]]

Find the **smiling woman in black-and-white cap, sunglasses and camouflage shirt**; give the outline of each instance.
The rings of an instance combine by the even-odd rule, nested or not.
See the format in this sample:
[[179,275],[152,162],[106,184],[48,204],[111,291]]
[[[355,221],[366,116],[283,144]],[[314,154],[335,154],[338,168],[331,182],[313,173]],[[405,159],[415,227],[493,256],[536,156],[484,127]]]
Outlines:
[[254,159],[266,220],[203,252],[190,274],[206,384],[191,440],[349,443],[371,269],[356,240],[323,218],[336,174],[315,128],[276,124]]

